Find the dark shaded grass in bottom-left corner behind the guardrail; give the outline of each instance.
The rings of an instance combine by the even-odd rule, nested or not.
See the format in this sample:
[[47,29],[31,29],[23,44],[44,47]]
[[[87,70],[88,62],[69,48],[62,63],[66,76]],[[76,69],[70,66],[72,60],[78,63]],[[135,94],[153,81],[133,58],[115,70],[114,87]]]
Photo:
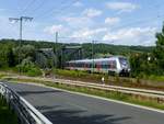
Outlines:
[[14,113],[9,110],[7,102],[0,97],[0,124],[17,124]]

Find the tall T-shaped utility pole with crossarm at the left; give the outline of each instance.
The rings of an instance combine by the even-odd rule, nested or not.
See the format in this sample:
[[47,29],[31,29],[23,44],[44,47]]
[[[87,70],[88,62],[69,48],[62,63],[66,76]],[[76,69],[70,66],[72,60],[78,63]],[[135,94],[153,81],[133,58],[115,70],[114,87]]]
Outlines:
[[[19,64],[21,64],[21,43],[22,43],[22,23],[23,23],[23,21],[32,21],[33,20],[33,18],[30,18],[30,16],[20,16],[20,18],[9,18],[9,21],[15,21],[15,22],[20,22],[20,42],[19,42],[19,49],[20,49],[20,52],[19,52]],[[20,68],[20,74],[21,74],[21,68]]]

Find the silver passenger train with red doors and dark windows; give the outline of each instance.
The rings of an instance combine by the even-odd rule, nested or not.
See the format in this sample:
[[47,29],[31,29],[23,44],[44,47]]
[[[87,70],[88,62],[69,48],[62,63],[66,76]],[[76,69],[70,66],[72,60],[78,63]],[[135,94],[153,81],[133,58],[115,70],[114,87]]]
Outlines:
[[108,75],[129,76],[130,64],[125,56],[110,56],[108,58],[80,59],[66,63],[66,69],[84,70],[87,72],[98,72]]

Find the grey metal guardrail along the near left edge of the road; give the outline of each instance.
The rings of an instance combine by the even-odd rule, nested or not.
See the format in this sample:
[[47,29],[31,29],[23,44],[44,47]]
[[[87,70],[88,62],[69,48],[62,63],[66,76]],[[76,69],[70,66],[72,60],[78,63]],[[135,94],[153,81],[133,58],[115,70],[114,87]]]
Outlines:
[[0,93],[4,97],[10,108],[16,113],[21,124],[52,124],[25,99],[0,82]]

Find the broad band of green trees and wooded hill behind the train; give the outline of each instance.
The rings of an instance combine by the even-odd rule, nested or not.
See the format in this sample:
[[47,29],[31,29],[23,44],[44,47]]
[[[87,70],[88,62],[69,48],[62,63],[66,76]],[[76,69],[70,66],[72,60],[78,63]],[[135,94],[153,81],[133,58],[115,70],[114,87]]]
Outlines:
[[[0,68],[14,68],[30,75],[40,75],[39,68],[61,67],[62,61],[75,59],[70,53],[62,58],[61,50],[65,46],[81,46],[82,58],[108,57],[110,55],[124,55],[129,57],[132,77],[149,75],[164,75],[164,27],[156,33],[156,46],[124,46],[109,44],[61,44],[42,41],[16,40],[0,41]],[[20,47],[21,46],[21,47]],[[45,48],[45,53],[40,49]],[[55,56],[47,54],[51,48]],[[55,58],[55,59],[52,59]],[[56,61],[58,59],[58,61]],[[39,60],[39,61],[38,61]],[[45,63],[43,63],[45,60]],[[42,66],[40,66],[40,63]]]

